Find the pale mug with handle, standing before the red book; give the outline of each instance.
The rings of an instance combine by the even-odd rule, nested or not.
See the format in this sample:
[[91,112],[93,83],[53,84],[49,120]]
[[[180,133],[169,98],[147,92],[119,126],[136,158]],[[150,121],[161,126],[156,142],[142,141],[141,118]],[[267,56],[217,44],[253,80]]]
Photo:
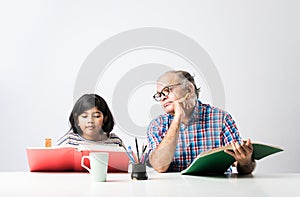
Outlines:
[[[90,168],[84,165],[84,159],[90,160]],[[81,166],[89,171],[94,181],[104,182],[107,176],[108,153],[91,152],[89,156],[81,158]]]

